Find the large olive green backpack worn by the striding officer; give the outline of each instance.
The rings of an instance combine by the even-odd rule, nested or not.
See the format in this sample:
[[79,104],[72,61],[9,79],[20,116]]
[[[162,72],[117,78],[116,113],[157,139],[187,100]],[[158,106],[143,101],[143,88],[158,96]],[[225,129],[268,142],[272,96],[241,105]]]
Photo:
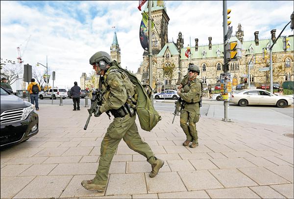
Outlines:
[[[146,90],[144,89],[138,78],[135,75],[128,72],[127,70],[123,69],[116,60],[112,62],[112,65],[117,66],[120,69],[117,71],[119,71],[122,74],[122,76],[128,76],[128,78],[124,78],[123,80],[124,85],[126,87],[126,91],[129,96],[128,100],[136,101],[136,104],[133,105],[137,110],[141,128],[146,131],[151,131],[153,127],[161,120],[161,116],[155,110]],[[128,88],[128,79],[131,81],[133,85],[135,85],[135,90]]]

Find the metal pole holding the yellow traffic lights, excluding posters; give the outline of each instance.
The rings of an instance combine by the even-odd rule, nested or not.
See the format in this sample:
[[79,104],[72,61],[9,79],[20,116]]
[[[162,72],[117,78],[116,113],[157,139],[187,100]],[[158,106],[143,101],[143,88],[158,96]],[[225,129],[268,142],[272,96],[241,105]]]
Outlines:
[[[225,46],[227,44],[227,24],[228,24],[228,19],[227,19],[227,2],[226,0],[222,1],[222,15],[223,15],[223,73],[228,73],[229,72],[229,64],[226,59],[226,53],[227,50],[225,50]],[[229,119],[229,101],[224,100],[223,101],[223,106],[224,106],[224,118],[222,118],[222,121],[224,122],[231,122],[231,119]]]

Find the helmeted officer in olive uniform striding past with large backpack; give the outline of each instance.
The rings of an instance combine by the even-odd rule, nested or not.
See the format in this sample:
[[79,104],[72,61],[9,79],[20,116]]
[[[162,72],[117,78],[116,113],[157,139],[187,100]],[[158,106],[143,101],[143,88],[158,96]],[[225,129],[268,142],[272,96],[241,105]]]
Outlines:
[[154,177],[164,165],[164,161],[156,158],[149,145],[142,141],[135,123],[136,113],[127,109],[127,101],[135,93],[135,85],[112,62],[109,54],[104,51],[98,51],[90,58],[90,64],[96,73],[103,75],[103,77],[100,76],[100,80],[104,95],[98,115],[95,116],[97,117],[104,112],[111,112],[114,116],[113,122],[107,128],[101,142],[96,176],[94,179],[83,180],[81,183],[84,188],[98,192],[104,192],[106,188],[109,167],[122,139],[130,149],[146,157],[147,162],[151,164],[150,177]]

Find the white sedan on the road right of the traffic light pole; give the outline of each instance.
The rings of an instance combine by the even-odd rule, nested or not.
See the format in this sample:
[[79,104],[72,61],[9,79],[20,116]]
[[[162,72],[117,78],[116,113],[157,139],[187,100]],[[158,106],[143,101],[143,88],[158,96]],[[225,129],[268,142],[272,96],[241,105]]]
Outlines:
[[263,104],[276,105],[279,108],[284,108],[294,103],[293,98],[275,95],[263,89],[246,89],[233,93],[230,102],[237,103],[239,106]]

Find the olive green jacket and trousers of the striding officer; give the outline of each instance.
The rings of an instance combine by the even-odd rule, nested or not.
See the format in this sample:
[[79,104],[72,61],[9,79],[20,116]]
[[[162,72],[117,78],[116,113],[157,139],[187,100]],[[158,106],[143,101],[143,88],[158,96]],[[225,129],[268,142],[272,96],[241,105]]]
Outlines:
[[[103,95],[100,107],[101,113],[112,109],[119,109],[125,104],[128,97],[124,84],[125,80],[121,73],[113,69],[118,69],[118,67],[110,67],[104,75],[105,83],[102,89],[104,89],[105,94]],[[127,114],[121,118],[114,118],[107,128],[101,143],[99,166],[93,179],[94,184],[106,185],[112,158],[122,138],[130,149],[144,155],[151,165],[154,163],[154,154],[149,145],[142,141],[135,120],[136,115],[130,117],[130,114]]]

